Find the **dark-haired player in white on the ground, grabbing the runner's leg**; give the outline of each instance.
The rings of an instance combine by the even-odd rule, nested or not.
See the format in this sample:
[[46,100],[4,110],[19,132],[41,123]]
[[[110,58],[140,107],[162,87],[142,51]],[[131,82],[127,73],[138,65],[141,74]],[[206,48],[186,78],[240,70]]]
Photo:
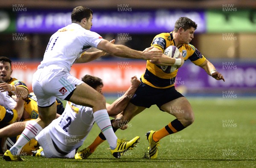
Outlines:
[[[103,83],[100,78],[86,75],[82,78],[82,81],[102,94]],[[125,109],[139,84],[140,81],[137,77],[132,77],[131,87],[125,94],[112,104],[106,103],[109,115],[117,115]],[[64,113],[58,119],[53,120],[49,126],[35,137],[42,148],[34,151],[33,156],[74,158],[76,148],[79,148],[84,143],[94,122],[92,108],[68,101]],[[121,155],[122,153],[116,156],[119,157]],[[76,157],[83,159],[82,152]]]

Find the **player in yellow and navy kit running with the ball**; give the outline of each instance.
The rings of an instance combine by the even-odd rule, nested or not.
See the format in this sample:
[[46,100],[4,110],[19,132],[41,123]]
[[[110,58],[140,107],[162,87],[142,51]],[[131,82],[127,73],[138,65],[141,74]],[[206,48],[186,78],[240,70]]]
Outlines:
[[[128,123],[135,115],[156,104],[161,111],[168,112],[176,117],[175,120],[157,131],[149,131],[146,133],[149,142],[149,151],[145,154],[146,158],[157,158],[157,150],[159,140],[169,134],[173,134],[185,129],[194,122],[194,112],[189,101],[177,90],[175,90],[175,77],[177,71],[170,73],[170,68],[161,69],[163,66],[177,65],[181,67],[185,60],[189,59],[195,65],[203,68],[206,73],[216,80],[224,80],[221,73],[215,69],[214,65],[209,62],[193,45],[189,42],[194,38],[194,32],[197,24],[187,17],[180,17],[175,22],[175,28],[170,33],[161,33],[154,37],[151,46],[152,50],[161,50],[162,52],[170,45],[175,45],[182,53],[183,57],[178,59],[170,58],[163,55],[158,60],[147,61],[145,73],[141,76],[142,83],[135,92],[128,106],[123,112],[116,116],[112,122],[113,130],[120,128],[125,129],[124,124]],[[173,108],[179,108],[182,113],[173,113]],[[100,137],[100,138],[99,138]],[[88,147],[88,154],[96,149],[96,147],[104,140],[98,136],[96,140]],[[93,148],[93,150],[91,149]],[[90,153],[89,153],[90,152]]]

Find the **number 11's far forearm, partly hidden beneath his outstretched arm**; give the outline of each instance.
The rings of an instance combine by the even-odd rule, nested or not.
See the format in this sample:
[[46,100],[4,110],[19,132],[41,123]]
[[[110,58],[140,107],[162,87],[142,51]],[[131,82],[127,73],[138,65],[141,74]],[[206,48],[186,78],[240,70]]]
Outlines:
[[[115,39],[110,41],[111,43],[115,42]],[[84,52],[81,54],[81,57],[76,60],[75,63],[86,63],[86,62],[91,62],[95,59],[98,59],[101,56],[105,56],[106,52],[99,50],[99,51],[94,51],[94,52]]]

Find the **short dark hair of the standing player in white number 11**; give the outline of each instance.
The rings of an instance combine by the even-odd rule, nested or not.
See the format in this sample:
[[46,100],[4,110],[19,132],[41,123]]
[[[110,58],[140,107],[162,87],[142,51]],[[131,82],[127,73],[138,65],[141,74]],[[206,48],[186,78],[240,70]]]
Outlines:
[[90,14],[93,14],[93,11],[90,8],[86,8],[84,6],[77,6],[73,8],[71,14],[72,23],[81,22],[82,19],[86,18],[87,20],[90,17]]

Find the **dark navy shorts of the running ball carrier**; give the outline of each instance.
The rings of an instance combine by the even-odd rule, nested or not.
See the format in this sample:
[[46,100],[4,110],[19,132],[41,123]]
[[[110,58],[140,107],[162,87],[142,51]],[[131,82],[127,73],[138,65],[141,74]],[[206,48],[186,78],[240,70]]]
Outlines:
[[180,92],[177,92],[174,86],[166,89],[158,89],[141,82],[130,102],[135,106],[146,108],[156,104],[160,109],[163,104],[180,97],[184,96]]

